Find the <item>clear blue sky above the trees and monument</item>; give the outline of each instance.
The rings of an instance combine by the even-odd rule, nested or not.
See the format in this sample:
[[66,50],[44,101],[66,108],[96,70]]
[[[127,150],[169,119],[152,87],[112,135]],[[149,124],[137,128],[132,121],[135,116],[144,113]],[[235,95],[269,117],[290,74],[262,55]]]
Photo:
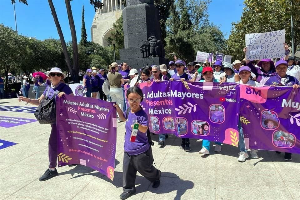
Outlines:
[[[27,37],[36,37],[43,40],[47,38],[59,39],[56,26],[51,15],[47,0],[27,0],[28,6],[16,0],[15,8],[17,15],[18,33]],[[243,0],[212,0],[208,12],[209,19],[221,30],[227,38],[231,30],[231,22],[240,19],[243,9]],[[66,6],[63,0],[53,0],[58,20],[63,30],[65,41],[71,40],[70,27]],[[91,25],[95,15],[94,7],[89,0],[73,0],[71,2],[73,18],[77,33],[77,40],[81,37],[81,12],[82,5],[85,8],[85,25],[88,40],[91,40]],[[0,0],[0,23],[15,29],[13,5],[11,0]]]

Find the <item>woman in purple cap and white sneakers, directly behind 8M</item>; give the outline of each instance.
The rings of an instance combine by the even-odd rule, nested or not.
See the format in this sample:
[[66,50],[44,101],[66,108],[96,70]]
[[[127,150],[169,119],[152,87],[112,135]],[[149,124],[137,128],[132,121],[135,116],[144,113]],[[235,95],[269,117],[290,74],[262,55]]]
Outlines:
[[[247,66],[243,66],[239,70],[239,76],[241,80],[237,83],[242,84],[242,85],[251,85],[252,87],[259,87],[259,84],[256,81],[251,80],[251,70]],[[238,146],[240,148],[240,153],[238,153],[239,157],[237,158],[237,161],[239,162],[245,162],[247,158],[249,158],[248,150],[246,149],[245,146],[245,141],[244,141],[244,132],[242,129],[242,123],[239,120],[238,121]],[[257,155],[257,150],[256,149],[251,149],[250,151],[251,158],[253,159],[258,159]]]

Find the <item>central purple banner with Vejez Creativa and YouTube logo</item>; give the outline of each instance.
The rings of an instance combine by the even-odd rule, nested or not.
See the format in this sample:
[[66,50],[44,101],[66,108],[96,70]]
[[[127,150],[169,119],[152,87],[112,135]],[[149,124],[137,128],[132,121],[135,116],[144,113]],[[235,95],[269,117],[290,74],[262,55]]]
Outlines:
[[141,106],[153,133],[201,138],[237,146],[238,84],[164,81],[140,83]]

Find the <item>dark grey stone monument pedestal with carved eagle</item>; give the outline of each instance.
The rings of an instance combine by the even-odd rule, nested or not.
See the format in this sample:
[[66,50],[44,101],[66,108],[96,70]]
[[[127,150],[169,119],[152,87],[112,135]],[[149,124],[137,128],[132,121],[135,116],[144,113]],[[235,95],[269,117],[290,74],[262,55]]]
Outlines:
[[124,49],[120,60],[133,68],[153,64],[166,64],[165,50],[161,41],[158,10],[154,0],[127,0],[123,9]]

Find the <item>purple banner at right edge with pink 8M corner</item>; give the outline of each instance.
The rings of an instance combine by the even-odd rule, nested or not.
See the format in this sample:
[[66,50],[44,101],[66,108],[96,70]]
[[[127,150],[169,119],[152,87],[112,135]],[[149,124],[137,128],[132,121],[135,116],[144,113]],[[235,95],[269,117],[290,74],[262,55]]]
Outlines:
[[246,147],[300,153],[299,89],[240,85],[240,93]]

